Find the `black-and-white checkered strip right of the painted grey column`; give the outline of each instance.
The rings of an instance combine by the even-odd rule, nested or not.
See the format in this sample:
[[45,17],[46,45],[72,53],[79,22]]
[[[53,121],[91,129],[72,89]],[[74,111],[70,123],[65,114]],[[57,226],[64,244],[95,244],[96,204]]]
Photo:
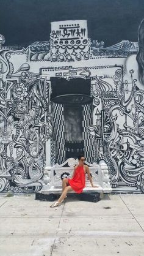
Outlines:
[[83,124],[84,127],[84,148],[85,148],[85,157],[87,162],[93,163],[94,159],[94,148],[93,148],[93,140],[87,132],[87,127],[92,125],[92,108],[90,105],[84,105],[83,110]]

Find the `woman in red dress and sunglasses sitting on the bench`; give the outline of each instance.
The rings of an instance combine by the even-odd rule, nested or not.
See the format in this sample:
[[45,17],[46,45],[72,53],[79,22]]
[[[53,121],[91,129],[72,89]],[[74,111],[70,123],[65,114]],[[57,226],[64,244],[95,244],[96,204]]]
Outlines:
[[62,180],[62,195],[60,195],[59,200],[53,203],[50,207],[53,208],[60,206],[60,203],[62,203],[63,200],[67,197],[68,191],[74,190],[77,194],[82,193],[82,190],[85,187],[86,173],[88,175],[88,179],[90,180],[92,187],[97,187],[93,186],[92,177],[90,176],[90,170],[87,165],[84,165],[85,157],[81,155],[78,157],[78,160],[79,164],[74,167],[72,178],[64,178]]

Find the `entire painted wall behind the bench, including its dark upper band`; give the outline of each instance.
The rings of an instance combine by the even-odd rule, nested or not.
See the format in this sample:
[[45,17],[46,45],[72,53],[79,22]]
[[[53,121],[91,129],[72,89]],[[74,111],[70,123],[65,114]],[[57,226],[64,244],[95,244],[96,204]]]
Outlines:
[[0,4],[0,192],[84,152],[114,193],[144,193],[144,2]]

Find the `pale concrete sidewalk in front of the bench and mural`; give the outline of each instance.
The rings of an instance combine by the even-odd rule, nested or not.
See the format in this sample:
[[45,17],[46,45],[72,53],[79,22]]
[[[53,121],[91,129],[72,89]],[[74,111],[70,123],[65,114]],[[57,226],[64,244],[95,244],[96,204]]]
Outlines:
[[0,195],[1,256],[143,256],[144,195],[65,203]]

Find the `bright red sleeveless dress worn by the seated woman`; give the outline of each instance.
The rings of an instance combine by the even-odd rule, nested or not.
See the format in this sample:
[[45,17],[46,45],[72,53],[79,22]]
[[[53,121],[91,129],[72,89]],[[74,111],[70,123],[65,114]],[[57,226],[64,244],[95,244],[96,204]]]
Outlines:
[[82,193],[85,187],[85,171],[83,166],[76,168],[73,178],[68,179],[68,183],[77,194]]

